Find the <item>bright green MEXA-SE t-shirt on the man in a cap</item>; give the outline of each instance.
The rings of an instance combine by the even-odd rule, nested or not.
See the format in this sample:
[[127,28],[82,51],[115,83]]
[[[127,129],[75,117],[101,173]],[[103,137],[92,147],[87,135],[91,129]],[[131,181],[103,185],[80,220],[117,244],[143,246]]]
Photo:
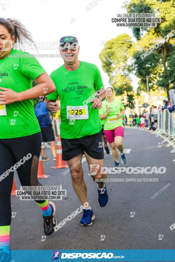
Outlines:
[[[94,135],[101,130],[98,109],[93,109],[90,100],[95,97],[95,91],[103,88],[101,74],[96,65],[80,61],[80,66],[74,71],[67,71],[63,66],[50,74],[56,91],[49,94],[49,100],[61,101],[61,138],[80,138],[86,135]],[[81,106],[80,110],[71,111],[70,107]],[[84,109],[82,106],[87,106]],[[69,119],[72,112],[79,114],[76,117],[86,119]],[[88,111],[88,112],[87,112]],[[71,113],[70,113],[71,112]]]

